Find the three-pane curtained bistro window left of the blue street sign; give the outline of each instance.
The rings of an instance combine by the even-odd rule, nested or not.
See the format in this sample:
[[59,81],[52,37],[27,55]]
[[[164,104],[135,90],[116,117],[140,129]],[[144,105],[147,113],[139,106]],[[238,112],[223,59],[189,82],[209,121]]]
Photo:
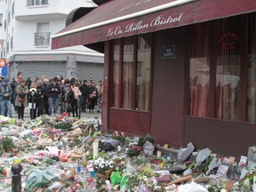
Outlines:
[[149,35],[114,40],[111,107],[149,111],[151,83],[149,42]]

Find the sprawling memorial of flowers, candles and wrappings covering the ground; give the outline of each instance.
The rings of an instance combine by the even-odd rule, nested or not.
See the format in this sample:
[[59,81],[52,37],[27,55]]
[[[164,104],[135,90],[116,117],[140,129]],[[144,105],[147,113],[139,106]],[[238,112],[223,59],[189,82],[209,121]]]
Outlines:
[[[101,132],[99,117],[0,116],[0,190],[12,191],[12,165],[22,191],[255,191],[256,147],[248,156],[210,148],[169,148],[154,136]],[[248,157],[248,158],[247,158]]]

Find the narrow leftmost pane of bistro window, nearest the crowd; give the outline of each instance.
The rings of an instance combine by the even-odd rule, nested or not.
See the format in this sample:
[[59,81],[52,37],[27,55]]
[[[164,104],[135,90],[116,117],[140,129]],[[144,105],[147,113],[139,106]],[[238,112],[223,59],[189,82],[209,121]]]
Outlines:
[[119,40],[114,42],[114,58],[112,70],[112,85],[111,85],[111,106],[118,108],[118,93],[119,93],[119,70],[120,70],[120,44]]

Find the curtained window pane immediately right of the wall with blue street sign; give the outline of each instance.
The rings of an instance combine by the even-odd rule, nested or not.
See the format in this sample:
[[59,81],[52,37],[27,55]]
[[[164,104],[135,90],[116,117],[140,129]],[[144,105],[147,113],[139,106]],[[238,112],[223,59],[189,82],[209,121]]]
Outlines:
[[210,81],[208,25],[208,23],[202,23],[193,28],[189,73],[190,97],[188,102],[190,116],[207,116]]

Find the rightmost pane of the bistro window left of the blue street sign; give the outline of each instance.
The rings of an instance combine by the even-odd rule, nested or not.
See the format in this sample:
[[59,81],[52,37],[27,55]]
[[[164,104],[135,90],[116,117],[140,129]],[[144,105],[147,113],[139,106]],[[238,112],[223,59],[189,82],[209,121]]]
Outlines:
[[149,95],[150,95],[150,75],[151,48],[148,44],[149,36],[139,36],[138,38],[138,60],[137,60],[137,76],[136,76],[136,106],[137,110],[149,111]]

